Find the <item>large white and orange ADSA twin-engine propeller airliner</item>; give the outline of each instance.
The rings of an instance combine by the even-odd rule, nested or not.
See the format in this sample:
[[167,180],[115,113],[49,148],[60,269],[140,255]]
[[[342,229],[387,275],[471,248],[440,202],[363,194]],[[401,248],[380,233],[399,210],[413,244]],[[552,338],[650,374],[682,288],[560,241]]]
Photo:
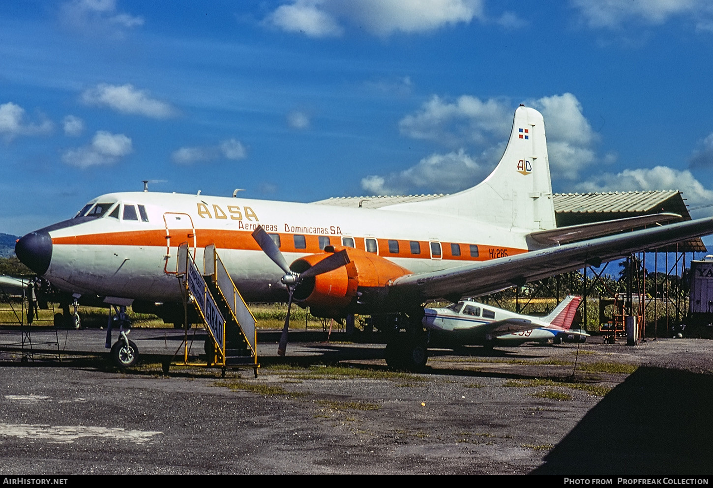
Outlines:
[[[108,193],[21,237],[15,252],[75,299],[100,296],[180,322],[178,246],[188,244],[200,262],[215,244],[245,301],[287,301],[288,309],[294,301],[318,317],[371,315],[389,334],[387,358],[418,369],[427,358],[427,300],[480,296],[713,233],[713,218],[667,223],[675,219],[558,228],[545,122],[520,105],[491,175],[455,194],[366,209],[235,194]],[[289,313],[281,354],[288,330]]]

